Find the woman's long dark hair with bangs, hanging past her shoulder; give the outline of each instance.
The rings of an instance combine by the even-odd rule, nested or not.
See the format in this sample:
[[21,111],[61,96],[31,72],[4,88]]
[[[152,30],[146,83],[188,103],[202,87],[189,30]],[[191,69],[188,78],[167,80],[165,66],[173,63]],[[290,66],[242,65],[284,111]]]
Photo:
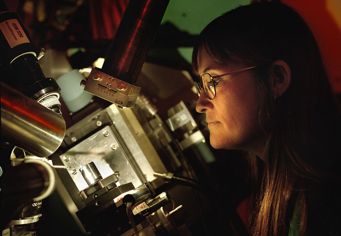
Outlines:
[[[206,26],[193,50],[194,72],[200,48],[218,63],[258,66],[252,71],[264,97],[259,116],[268,140],[253,235],[287,235],[295,204],[303,234],[307,192],[334,177],[331,163],[340,158],[336,147],[341,136],[340,110],[311,30],[282,3],[254,3]],[[283,96],[275,99],[267,68],[276,60],[290,66],[292,79]]]

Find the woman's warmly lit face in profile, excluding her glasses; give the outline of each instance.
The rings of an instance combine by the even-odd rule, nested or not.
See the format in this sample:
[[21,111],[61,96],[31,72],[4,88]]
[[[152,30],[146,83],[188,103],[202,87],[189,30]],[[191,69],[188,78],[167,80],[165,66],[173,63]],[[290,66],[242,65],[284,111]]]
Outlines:
[[[197,60],[199,76],[204,73],[214,76],[247,67],[219,64],[204,48],[199,50]],[[197,112],[206,113],[212,147],[251,151],[261,156],[265,135],[258,113],[263,97],[257,91],[256,79],[250,70],[216,79],[220,80],[216,85],[216,97],[209,100],[202,91],[196,105]]]

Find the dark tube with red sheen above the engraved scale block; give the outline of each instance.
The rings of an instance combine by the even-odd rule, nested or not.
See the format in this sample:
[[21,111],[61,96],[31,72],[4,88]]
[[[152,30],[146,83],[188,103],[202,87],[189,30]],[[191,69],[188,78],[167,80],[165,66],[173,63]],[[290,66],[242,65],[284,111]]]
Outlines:
[[132,83],[147,57],[169,0],[130,0],[102,71]]

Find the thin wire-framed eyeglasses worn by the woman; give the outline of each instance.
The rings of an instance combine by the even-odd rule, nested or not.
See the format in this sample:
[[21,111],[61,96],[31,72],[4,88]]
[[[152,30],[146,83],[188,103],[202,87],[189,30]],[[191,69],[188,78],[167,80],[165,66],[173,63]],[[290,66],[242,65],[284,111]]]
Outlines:
[[196,89],[198,91],[199,97],[200,97],[200,92],[202,89],[204,89],[204,93],[208,99],[212,100],[214,97],[216,97],[216,85],[219,82],[219,80],[213,80],[214,78],[219,78],[219,77],[222,77],[225,75],[234,74],[234,73],[241,72],[244,70],[250,70],[250,69],[255,68],[255,67],[257,67],[257,66],[251,66],[251,67],[248,67],[245,69],[236,70],[233,72],[229,72],[226,74],[220,74],[220,75],[216,75],[216,76],[212,76],[208,73],[203,74],[199,79],[200,81],[195,82]]

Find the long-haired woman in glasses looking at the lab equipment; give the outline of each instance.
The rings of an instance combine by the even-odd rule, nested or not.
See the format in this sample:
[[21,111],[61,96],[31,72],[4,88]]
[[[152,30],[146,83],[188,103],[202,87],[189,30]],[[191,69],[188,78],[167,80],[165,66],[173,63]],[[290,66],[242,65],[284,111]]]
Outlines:
[[241,6],[201,32],[192,66],[212,147],[264,161],[251,234],[341,235],[341,115],[303,19],[281,3]]

